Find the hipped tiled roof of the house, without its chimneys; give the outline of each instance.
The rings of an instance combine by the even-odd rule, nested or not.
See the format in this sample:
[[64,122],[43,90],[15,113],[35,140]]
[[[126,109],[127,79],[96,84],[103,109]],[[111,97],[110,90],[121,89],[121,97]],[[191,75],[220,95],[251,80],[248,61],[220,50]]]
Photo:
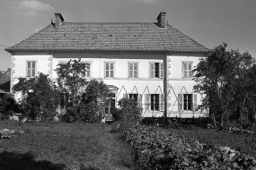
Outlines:
[[153,22],[63,22],[60,29],[49,24],[5,50],[206,52],[207,48],[168,23],[160,28]]

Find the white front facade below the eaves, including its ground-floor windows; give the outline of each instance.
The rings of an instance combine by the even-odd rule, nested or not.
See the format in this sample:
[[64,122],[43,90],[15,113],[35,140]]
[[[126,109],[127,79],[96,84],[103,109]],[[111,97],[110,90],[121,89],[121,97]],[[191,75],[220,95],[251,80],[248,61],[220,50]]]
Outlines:
[[[113,93],[115,93],[115,106],[117,106],[120,98],[136,97],[144,108],[144,117],[163,116],[163,97],[166,96],[168,97],[165,100],[167,103],[167,106],[165,106],[167,116],[206,116],[206,110],[195,111],[191,108],[194,104],[200,105],[201,96],[193,93],[195,82],[191,78],[183,78],[184,75],[182,75],[184,74],[184,68],[182,68],[183,63],[189,63],[191,64],[190,66],[194,67],[199,64],[199,58],[201,57],[203,55],[199,54],[184,55],[132,52],[70,52],[40,55],[21,53],[12,55],[13,69],[11,86],[13,87],[13,84],[18,82],[18,78],[27,76],[28,62],[35,62],[36,72],[48,73],[51,79],[56,79],[57,73],[54,70],[57,68],[57,64],[68,62],[69,59],[81,58],[83,62],[91,64],[90,78],[88,79],[102,80],[105,84],[117,88],[117,90],[113,90]],[[113,78],[106,77],[106,63],[108,62],[113,63]],[[129,78],[129,63],[137,63],[137,78]],[[161,64],[164,65],[162,72],[160,68]],[[154,71],[154,73],[156,72],[154,74],[156,76],[155,78],[151,77],[151,72],[153,72],[151,69],[152,65],[155,66],[155,70],[158,68],[157,72]],[[160,76],[161,73],[162,75]],[[21,96],[18,94],[16,98],[21,98]]]

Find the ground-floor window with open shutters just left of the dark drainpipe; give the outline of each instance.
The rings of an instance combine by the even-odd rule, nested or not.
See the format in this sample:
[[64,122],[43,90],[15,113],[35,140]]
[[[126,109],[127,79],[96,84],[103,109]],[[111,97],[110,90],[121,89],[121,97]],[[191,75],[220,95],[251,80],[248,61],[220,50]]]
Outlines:
[[163,111],[163,94],[146,94],[146,110]]

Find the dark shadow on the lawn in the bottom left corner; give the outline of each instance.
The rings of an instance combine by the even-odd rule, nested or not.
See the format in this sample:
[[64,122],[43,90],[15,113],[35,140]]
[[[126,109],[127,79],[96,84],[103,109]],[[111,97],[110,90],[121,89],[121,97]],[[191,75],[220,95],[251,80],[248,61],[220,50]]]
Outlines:
[[64,170],[64,164],[53,164],[50,161],[36,161],[34,154],[27,152],[19,154],[4,151],[0,153],[1,170]]

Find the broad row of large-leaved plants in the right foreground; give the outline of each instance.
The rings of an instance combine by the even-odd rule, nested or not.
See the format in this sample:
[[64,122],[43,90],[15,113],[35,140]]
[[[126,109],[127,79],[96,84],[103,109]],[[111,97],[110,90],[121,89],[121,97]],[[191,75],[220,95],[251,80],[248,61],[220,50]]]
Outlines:
[[229,147],[213,146],[187,139],[152,126],[126,130],[124,139],[131,145],[137,169],[253,169],[254,157]]

